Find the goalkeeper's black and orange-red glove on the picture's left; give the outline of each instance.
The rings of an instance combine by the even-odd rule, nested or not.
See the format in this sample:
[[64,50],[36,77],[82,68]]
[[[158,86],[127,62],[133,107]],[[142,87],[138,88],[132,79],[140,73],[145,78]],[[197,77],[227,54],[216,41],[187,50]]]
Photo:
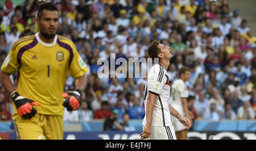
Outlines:
[[32,116],[35,116],[36,110],[32,106],[38,106],[38,103],[29,98],[24,98],[17,91],[11,93],[10,97],[18,110],[18,114],[22,116],[22,118],[31,119]]

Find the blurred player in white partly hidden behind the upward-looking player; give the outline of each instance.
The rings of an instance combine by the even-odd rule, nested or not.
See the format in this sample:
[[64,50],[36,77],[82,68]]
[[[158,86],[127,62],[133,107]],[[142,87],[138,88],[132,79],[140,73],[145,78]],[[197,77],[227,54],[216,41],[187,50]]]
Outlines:
[[[188,81],[190,78],[191,70],[183,66],[179,70],[179,79],[176,79],[172,83],[172,107],[174,107],[182,116],[192,119],[192,113],[188,111],[187,98],[188,98],[188,89],[185,85],[185,81]],[[177,120],[174,116],[171,115],[172,125],[174,125],[174,130],[176,132],[177,140],[187,140],[188,129],[184,127],[183,124]]]

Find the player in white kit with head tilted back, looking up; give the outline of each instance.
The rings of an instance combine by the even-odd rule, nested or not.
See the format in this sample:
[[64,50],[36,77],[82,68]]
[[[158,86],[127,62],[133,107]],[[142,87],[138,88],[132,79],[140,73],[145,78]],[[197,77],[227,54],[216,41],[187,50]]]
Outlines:
[[152,66],[147,75],[144,93],[146,115],[142,123],[141,138],[176,140],[171,115],[179,119],[186,128],[190,127],[191,122],[169,104],[170,83],[166,69],[172,58],[171,48],[160,44],[159,40],[155,40],[150,44],[147,51],[151,58],[159,58],[159,64]]

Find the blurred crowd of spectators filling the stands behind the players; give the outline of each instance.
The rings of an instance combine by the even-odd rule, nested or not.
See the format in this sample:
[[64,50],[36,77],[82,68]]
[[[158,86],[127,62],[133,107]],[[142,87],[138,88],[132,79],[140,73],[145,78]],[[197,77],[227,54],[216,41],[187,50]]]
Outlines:
[[[88,121],[110,116],[144,117],[146,78],[98,78],[99,58],[147,58],[147,47],[159,39],[171,46],[170,83],[182,66],[191,69],[186,82],[188,107],[194,120],[256,118],[256,36],[229,10],[226,0],[48,0],[59,10],[59,35],[76,44],[90,68],[88,85],[77,111],[64,121]],[[0,2],[0,62],[20,37],[39,31],[37,0]],[[117,68],[117,66],[116,66]],[[150,68],[150,67],[148,67]],[[139,71],[141,72],[141,71]],[[11,75],[16,82],[16,73]],[[74,89],[69,76],[65,91]],[[0,120],[11,120],[13,105],[0,91]],[[171,98],[170,98],[171,102]],[[125,116],[126,118],[126,116]]]

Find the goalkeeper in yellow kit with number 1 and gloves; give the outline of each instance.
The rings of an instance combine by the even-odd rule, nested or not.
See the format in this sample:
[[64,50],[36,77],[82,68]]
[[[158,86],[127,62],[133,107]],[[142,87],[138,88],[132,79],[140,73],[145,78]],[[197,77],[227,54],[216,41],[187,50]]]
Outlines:
[[[57,8],[43,3],[36,19],[39,32],[16,41],[1,68],[19,139],[63,139],[64,107],[73,111],[80,105],[88,68],[73,42],[56,35],[58,20]],[[9,75],[16,69],[15,89]],[[68,74],[76,78],[76,89],[63,93]]]

